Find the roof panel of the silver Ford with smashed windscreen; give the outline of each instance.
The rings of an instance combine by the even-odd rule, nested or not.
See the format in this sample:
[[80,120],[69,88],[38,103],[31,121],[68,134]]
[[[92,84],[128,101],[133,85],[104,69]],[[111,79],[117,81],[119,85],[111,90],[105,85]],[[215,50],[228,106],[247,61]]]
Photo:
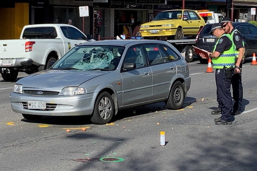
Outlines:
[[164,43],[166,41],[163,40],[138,40],[138,39],[125,39],[125,40],[98,40],[98,41],[92,41],[92,42],[87,42],[87,43],[83,43],[80,44],[79,46],[83,46],[83,45],[101,45],[101,46],[126,46],[128,44],[140,44],[140,43],[162,43],[162,44],[166,44]]

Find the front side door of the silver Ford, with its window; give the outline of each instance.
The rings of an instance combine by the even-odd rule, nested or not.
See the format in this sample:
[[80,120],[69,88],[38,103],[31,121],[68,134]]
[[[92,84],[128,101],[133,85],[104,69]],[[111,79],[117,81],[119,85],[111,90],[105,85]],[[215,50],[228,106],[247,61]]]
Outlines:
[[122,106],[151,100],[152,71],[147,64],[143,46],[130,47],[124,57],[123,65],[125,63],[135,63],[137,68],[133,70],[121,69],[123,85]]

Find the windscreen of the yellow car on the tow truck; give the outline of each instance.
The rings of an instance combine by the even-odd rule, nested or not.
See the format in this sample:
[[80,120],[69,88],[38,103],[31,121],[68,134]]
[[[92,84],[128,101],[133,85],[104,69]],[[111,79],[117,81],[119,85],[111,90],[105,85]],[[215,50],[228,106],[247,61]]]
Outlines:
[[162,11],[156,15],[153,21],[157,20],[174,20],[174,19],[181,19],[182,11],[175,10],[175,11]]

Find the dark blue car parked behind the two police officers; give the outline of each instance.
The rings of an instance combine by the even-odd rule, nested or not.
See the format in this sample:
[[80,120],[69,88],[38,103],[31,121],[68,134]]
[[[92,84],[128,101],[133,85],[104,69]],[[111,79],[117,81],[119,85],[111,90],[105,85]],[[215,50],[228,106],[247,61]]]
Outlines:
[[[233,22],[232,24],[241,33],[244,39],[245,57],[242,61],[242,63],[244,63],[245,58],[252,57],[253,53],[257,54],[257,27],[251,23],[245,22]],[[212,24],[206,24],[196,36],[196,47],[210,52],[217,42],[217,38],[212,34],[209,34],[211,26]],[[208,60],[200,57],[199,61],[203,64],[208,63]]]

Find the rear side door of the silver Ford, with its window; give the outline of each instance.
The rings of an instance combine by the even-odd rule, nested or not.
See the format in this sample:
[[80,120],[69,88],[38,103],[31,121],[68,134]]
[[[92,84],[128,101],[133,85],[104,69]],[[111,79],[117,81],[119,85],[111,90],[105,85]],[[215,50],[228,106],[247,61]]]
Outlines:
[[166,98],[169,94],[171,78],[177,73],[177,67],[163,50],[165,46],[145,44],[144,47],[153,72],[153,100]]

